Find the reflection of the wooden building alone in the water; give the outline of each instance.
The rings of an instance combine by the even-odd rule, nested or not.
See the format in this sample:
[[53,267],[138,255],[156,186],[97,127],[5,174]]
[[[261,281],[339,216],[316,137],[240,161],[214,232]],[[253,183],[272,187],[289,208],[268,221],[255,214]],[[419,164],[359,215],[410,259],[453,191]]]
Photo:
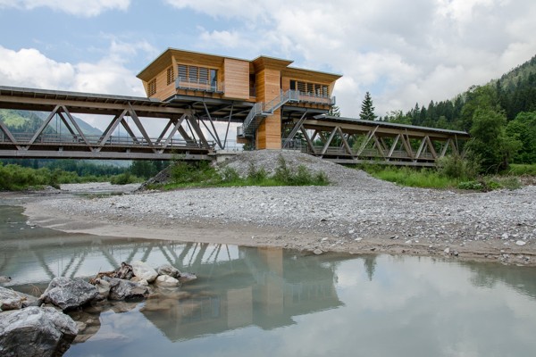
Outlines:
[[[141,312],[172,341],[255,325],[291,325],[293,317],[336,308],[333,258],[301,256],[281,248],[238,247],[239,259],[192,266],[199,287],[162,293]],[[235,271],[236,276],[230,274]],[[185,286],[186,287],[186,286]]]

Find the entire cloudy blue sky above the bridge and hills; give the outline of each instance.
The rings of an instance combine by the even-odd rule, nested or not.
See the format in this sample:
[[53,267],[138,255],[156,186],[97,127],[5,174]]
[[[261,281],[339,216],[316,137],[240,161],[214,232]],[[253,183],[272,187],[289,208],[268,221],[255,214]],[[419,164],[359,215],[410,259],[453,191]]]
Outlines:
[[451,98],[536,54],[534,0],[0,0],[0,85],[145,95],[167,47],[342,74],[341,112]]

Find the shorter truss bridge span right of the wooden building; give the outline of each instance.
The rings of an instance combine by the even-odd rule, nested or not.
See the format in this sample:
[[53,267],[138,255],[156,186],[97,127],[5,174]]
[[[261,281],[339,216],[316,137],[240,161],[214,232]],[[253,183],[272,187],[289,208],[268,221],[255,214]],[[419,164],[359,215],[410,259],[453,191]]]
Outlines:
[[469,138],[464,132],[387,126],[381,122],[337,122],[305,116],[290,122],[293,126],[287,139],[294,139],[297,132],[301,132],[305,144],[300,146],[302,151],[345,163],[373,160],[395,165],[433,166],[446,154],[463,155],[458,141]]

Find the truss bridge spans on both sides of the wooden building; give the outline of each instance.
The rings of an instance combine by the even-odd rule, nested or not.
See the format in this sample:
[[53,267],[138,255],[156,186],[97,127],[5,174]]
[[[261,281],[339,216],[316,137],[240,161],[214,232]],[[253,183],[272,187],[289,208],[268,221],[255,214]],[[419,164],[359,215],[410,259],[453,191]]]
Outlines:
[[[225,149],[230,122],[244,120],[249,112],[251,104],[235,102],[0,86],[0,108],[48,112],[35,132],[11,132],[0,119],[0,157],[171,160],[180,155],[208,160],[216,146]],[[284,149],[335,162],[433,166],[446,154],[463,155],[462,144],[469,138],[464,131],[292,112],[285,106],[282,111]],[[102,135],[87,135],[73,116],[77,113],[105,117],[107,128]],[[227,122],[224,138],[214,124],[222,120]],[[54,122],[56,133],[50,129]],[[163,123],[163,128],[156,127]],[[148,128],[161,130],[160,135],[149,137]]]

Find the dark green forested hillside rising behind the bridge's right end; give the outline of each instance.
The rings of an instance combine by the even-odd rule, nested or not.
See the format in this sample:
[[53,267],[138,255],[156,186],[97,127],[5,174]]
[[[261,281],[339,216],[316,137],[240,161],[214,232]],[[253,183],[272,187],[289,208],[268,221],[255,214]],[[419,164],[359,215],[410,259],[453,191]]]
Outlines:
[[469,132],[468,149],[484,172],[509,162],[536,163],[536,56],[454,99],[415,104],[381,120]]

